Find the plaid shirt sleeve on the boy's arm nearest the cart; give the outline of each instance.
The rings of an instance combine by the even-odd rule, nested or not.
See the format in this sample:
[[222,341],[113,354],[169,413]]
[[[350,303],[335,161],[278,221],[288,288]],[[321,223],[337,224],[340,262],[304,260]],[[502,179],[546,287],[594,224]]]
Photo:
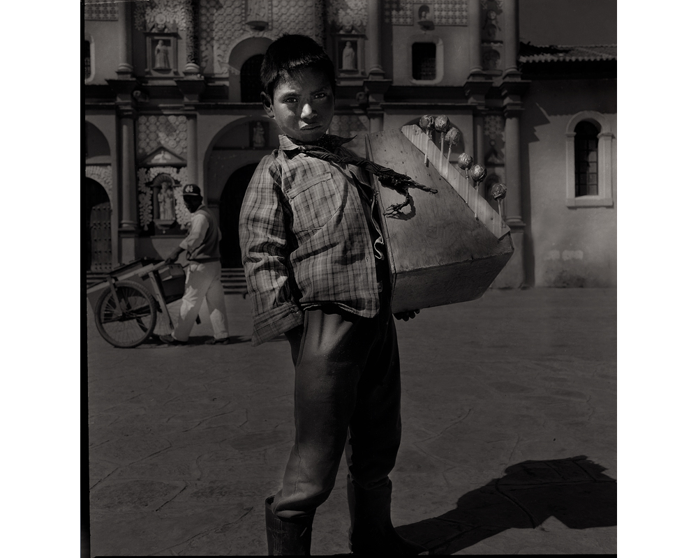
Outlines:
[[303,323],[303,311],[293,296],[281,197],[279,166],[274,156],[268,155],[252,176],[240,212],[240,248],[252,301],[253,347]]

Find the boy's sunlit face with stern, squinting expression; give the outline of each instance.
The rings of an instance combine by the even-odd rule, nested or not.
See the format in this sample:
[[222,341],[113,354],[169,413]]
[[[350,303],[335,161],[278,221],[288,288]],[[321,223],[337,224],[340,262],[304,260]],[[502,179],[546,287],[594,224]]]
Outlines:
[[262,93],[262,105],[281,133],[302,142],[319,140],[334,116],[332,86],[310,68],[279,82],[273,99]]

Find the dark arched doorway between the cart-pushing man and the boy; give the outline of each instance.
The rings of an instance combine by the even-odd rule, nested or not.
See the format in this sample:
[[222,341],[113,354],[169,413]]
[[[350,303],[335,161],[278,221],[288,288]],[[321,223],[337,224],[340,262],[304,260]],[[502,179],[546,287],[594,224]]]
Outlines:
[[230,175],[223,187],[221,202],[218,206],[221,216],[221,266],[242,267],[242,252],[240,250],[240,210],[245,197],[247,186],[255,173],[258,163],[245,165]]

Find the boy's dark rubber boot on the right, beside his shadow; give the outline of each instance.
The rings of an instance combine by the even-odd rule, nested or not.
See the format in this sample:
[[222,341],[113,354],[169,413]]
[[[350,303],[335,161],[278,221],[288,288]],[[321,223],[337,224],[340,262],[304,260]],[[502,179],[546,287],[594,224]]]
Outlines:
[[357,555],[403,556],[428,554],[426,548],[402,538],[390,520],[392,483],[364,490],[347,477],[349,550]]

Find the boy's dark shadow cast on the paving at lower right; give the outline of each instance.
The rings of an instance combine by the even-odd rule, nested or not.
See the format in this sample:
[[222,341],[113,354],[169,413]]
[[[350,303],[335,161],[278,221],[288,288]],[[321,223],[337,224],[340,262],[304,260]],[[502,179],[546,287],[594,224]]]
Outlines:
[[579,455],[524,461],[461,496],[438,518],[396,530],[429,554],[453,554],[506,529],[534,529],[554,516],[570,529],[616,525],[616,481]]

